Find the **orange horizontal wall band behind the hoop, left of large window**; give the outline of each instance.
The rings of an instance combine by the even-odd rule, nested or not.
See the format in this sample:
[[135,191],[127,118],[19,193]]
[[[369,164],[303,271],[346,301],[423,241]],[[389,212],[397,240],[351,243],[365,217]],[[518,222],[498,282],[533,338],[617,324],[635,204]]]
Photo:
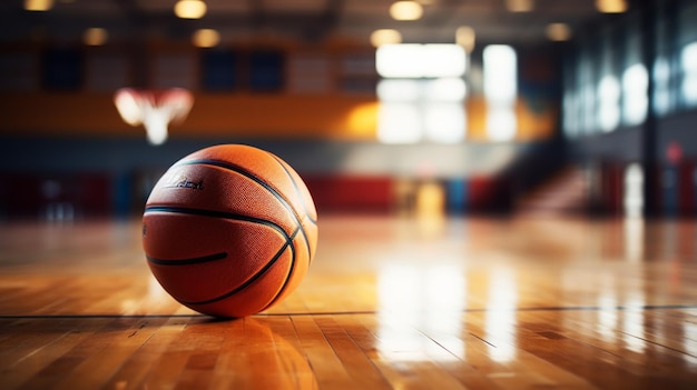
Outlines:
[[[118,116],[110,93],[12,93],[0,96],[4,134],[137,134]],[[375,139],[376,101],[371,97],[195,93],[174,136]]]

